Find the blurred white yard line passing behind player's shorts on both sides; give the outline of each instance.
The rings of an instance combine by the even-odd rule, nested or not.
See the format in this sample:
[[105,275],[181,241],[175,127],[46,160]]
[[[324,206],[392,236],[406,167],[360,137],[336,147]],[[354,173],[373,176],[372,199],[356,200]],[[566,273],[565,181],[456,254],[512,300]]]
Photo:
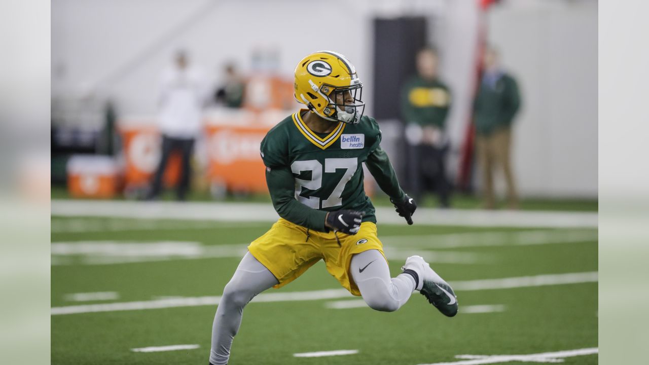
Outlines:
[[[447,264],[489,263],[496,260],[495,256],[485,253],[446,251],[454,247],[557,244],[596,240],[597,231],[594,229],[382,236],[389,258],[420,255],[428,262]],[[200,242],[184,241],[53,242],[51,265],[109,265],[201,258],[241,258],[247,252],[247,246],[248,244],[203,245]]]

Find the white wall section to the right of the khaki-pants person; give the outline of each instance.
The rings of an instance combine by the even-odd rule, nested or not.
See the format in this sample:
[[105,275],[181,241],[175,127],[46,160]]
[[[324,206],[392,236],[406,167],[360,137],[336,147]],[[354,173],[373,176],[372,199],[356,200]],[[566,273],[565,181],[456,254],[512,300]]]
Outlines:
[[491,11],[489,40],[523,97],[514,151],[524,195],[597,196],[597,20],[596,1]]

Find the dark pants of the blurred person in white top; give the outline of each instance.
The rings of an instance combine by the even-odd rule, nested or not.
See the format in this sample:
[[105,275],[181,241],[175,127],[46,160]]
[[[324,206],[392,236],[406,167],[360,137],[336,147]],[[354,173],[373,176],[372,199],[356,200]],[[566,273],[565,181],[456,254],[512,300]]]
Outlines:
[[158,164],[158,170],[156,170],[156,174],[153,177],[153,185],[151,186],[149,199],[158,197],[158,195],[160,195],[160,192],[162,192],[162,177],[164,175],[164,170],[167,166],[167,162],[169,162],[169,156],[173,151],[179,151],[181,156],[180,181],[178,182],[178,186],[176,186],[176,197],[178,198],[178,200],[186,199],[187,191],[190,188],[190,158],[193,147],[193,138],[172,138],[165,136],[164,134],[162,135],[162,157],[160,158],[160,164]]

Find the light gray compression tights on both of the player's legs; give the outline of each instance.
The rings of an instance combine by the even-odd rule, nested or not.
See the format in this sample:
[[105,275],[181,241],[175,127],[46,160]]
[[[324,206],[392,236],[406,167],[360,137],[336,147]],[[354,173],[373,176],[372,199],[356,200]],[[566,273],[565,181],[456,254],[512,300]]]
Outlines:
[[[408,274],[390,277],[386,259],[376,249],[352,257],[349,270],[365,300],[373,309],[392,312],[400,308],[415,290],[415,279]],[[252,298],[277,284],[275,276],[251,253],[246,253],[230,283],[223,289],[212,325],[210,363],[225,365],[230,358],[232,339],[239,331],[243,307]]]

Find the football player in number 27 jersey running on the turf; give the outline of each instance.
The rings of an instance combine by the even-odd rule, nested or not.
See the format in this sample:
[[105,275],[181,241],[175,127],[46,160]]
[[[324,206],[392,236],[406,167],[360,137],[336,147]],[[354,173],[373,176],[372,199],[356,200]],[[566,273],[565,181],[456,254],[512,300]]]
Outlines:
[[243,307],[254,296],[290,283],[319,260],[375,310],[397,310],[418,290],[446,316],[458,312],[452,288],[422,257],[407,258],[402,273],[390,277],[363,188],[363,162],[408,224],[417,205],[381,149],[378,123],[363,116],[362,89],[356,69],[339,53],[312,53],[297,64],[295,99],[306,108],[280,121],[261,145],[280,219],[249,245],[223,290],[210,364],[227,364]]

